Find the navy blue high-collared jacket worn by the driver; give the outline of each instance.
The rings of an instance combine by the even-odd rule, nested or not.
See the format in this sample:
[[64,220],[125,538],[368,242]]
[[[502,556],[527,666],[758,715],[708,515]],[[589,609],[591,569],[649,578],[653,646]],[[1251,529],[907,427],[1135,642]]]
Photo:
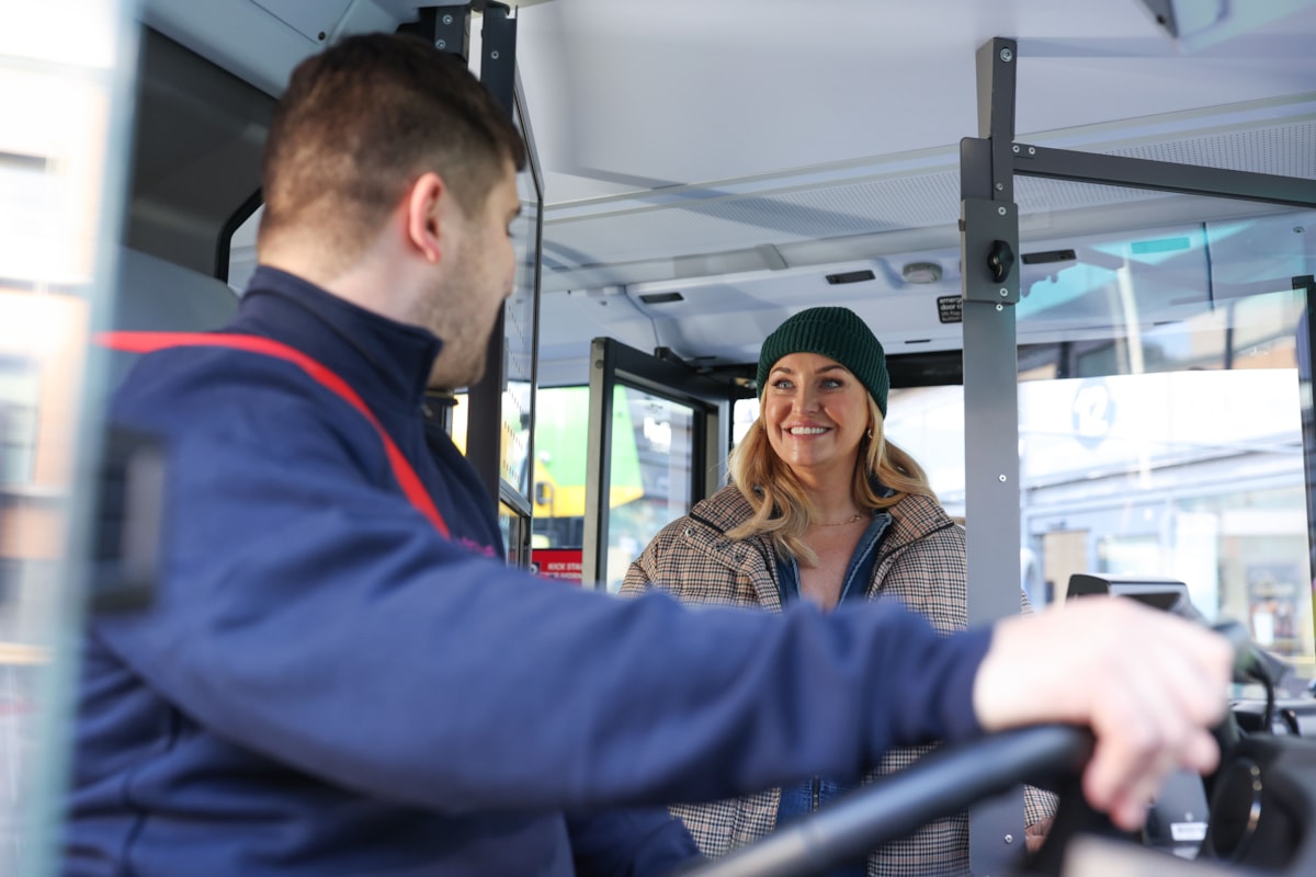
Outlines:
[[[251,352],[143,356],[116,422],[168,440],[164,573],[87,634],[66,874],[650,874],[694,852],[644,809],[978,731],[990,631],[896,605],[784,617],[624,601],[511,569],[421,400],[440,342],[262,268],[229,331],[343,377],[368,422]],[[819,722],[819,715],[830,721]]]

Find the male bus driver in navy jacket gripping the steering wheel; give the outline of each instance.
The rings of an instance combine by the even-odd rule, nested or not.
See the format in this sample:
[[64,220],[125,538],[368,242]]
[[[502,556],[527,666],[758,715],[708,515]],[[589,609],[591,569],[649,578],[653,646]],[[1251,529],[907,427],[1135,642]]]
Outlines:
[[113,405],[168,443],[166,561],[87,634],[66,873],[657,874],[695,851],[646,806],[1038,721],[1094,727],[1087,793],[1124,824],[1213,763],[1228,648],[1123,601],[941,639],[894,605],[690,611],[507,568],[420,409],[480,376],[522,163],[422,42],[293,74],[238,317]]

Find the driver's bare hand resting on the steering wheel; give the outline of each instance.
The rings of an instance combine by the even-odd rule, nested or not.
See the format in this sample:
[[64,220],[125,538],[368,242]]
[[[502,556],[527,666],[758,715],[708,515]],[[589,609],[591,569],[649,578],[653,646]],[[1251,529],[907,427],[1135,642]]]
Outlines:
[[1125,598],[1080,600],[996,626],[974,681],[988,731],[1065,722],[1096,736],[1083,792],[1133,831],[1177,768],[1205,773],[1220,752],[1233,651],[1220,635]]

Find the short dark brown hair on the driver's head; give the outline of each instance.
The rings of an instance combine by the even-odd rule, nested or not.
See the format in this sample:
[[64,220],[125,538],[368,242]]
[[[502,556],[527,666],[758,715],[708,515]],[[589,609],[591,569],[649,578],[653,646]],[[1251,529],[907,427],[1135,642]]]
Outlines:
[[525,145],[461,58],[400,34],[347,37],[301,62],[266,142],[261,241],[303,227],[354,259],[428,171],[475,216]]

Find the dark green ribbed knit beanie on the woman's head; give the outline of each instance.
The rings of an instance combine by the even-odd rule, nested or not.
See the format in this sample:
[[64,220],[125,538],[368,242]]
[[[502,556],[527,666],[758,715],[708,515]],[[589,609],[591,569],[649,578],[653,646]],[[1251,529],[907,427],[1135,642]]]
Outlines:
[[759,396],[772,366],[790,354],[819,354],[841,363],[869,388],[882,417],[887,415],[887,356],[873,330],[849,308],[809,308],[778,326],[758,354]]

